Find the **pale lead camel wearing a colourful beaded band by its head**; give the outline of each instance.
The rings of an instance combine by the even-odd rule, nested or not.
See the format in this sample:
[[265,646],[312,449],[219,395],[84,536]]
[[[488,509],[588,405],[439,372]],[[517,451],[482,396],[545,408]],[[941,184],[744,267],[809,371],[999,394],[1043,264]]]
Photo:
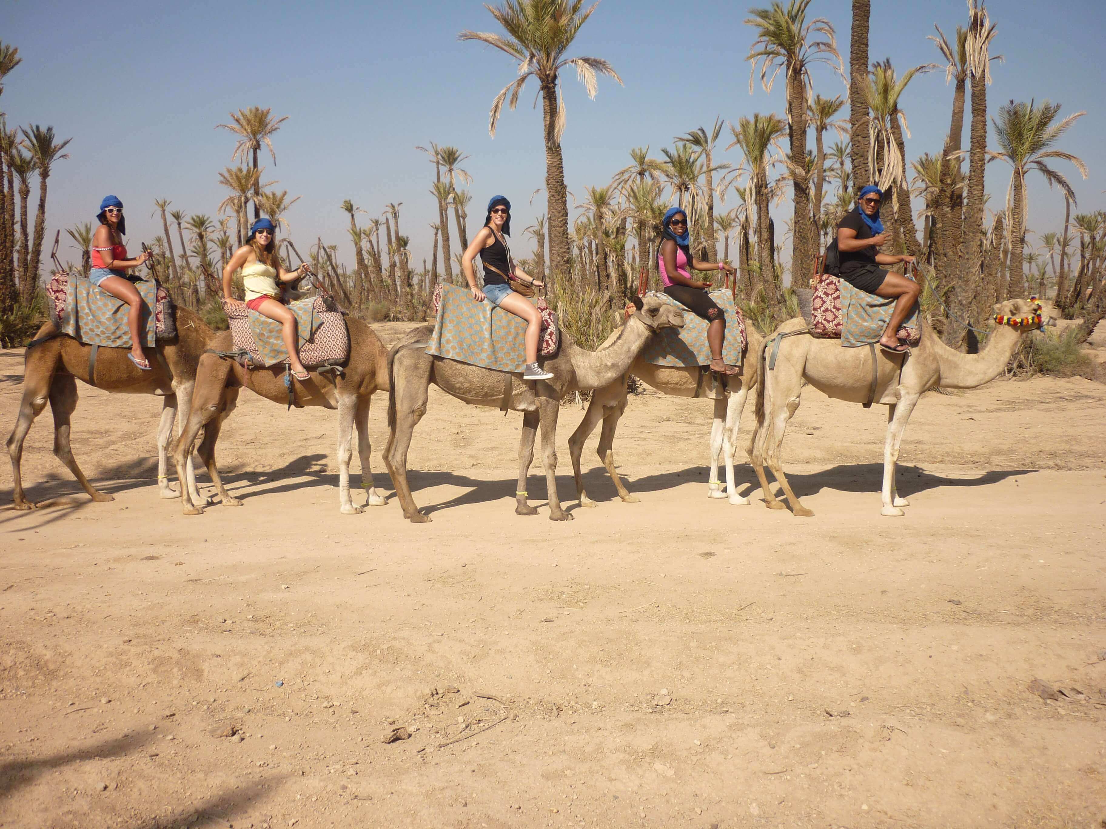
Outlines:
[[[887,406],[881,515],[905,515],[901,507],[909,506],[896,491],[895,464],[907,420],[921,393],[935,387],[971,389],[989,382],[1005,368],[1025,332],[1053,325],[1057,318],[1055,307],[1042,308],[1039,303],[1027,300],[1008,300],[995,305],[994,312],[1013,322],[995,325],[987,348],[979,354],[961,354],[949,348],[928,324],[922,325],[920,342],[908,356],[893,356],[876,349],[878,377],[873,400]],[[1033,319],[1034,313],[1041,314],[1040,322]],[[805,333],[805,328],[806,323],[802,319],[790,319],[761,346],[757,429],[750,445],[753,469],[764,491],[764,505],[770,510],[783,508],[764,475],[766,463],[783,487],[792,512],[800,516],[814,513],[800,503],[787,483],[780,448],[787,420],[799,408],[803,382],[838,400],[864,403],[870,393],[873,375],[869,349],[843,348],[839,340],[816,339]],[[765,355],[775,349],[773,340],[780,334],[789,336],[779,342],[775,368],[769,368],[764,365]]]

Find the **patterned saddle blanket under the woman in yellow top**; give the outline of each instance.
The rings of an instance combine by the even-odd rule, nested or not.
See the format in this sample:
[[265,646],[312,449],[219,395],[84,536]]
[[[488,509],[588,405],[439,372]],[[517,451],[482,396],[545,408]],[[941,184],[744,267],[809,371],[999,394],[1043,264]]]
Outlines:
[[[244,305],[229,305],[225,301],[222,307],[230,323],[234,348],[247,351],[254,367],[289,361],[280,323]],[[342,312],[332,302],[322,296],[309,296],[292,303],[289,308],[295,314],[300,360],[305,367],[342,363],[349,356],[349,329]]]

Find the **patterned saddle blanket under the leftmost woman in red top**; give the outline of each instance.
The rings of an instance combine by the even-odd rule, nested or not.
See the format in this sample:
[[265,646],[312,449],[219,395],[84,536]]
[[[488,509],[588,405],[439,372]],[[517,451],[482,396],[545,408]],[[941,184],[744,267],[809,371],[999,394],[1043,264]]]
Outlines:
[[[143,345],[153,347],[156,339],[176,337],[177,314],[169,292],[156,280],[140,280],[134,286],[144,301],[139,323]],[[46,297],[50,318],[63,334],[87,345],[131,347],[128,305],[84,276],[55,272],[46,283]]]

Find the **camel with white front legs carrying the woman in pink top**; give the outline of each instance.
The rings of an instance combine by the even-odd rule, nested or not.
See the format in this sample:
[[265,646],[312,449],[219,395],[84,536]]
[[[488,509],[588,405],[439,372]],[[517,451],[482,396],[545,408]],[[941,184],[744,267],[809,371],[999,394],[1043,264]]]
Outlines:
[[[749,503],[748,497],[738,494],[733,480],[733,455],[738,444],[738,431],[741,429],[741,412],[745,408],[745,397],[750,389],[753,391],[757,389],[757,378],[760,370],[757,355],[760,354],[761,337],[748,322],[745,323],[745,335],[748,340],[741,374],[727,378],[729,393],[721,390],[712,377],[700,379],[698,368],[656,366],[646,363],[640,356],[634,360],[629,370],[615,382],[592,392],[584,419],[568,439],[572,472],[576,480],[576,492],[580,495],[581,506],[596,505],[584,491],[584,480],[580,473],[580,458],[584,451],[584,442],[601,420],[603,421],[603,431],[599,432],[599,445],[596,448],[599,461],[606,466],[607,474],[611,475],[611,480],[618,491],[618,497],[627,503],[638,501],[636,495],[629,493],[615,470],[613,449],[618,420],[626,411],[628,399],[626,381],[629,375],[634,375],[666,395],[695,397],[698,390],[701,396],[713,398],[714,416],[710,429],[710,478],[707,479],[707,497],[729,499],[731,504]],[[603,347],[606,345],[607,343],[604,343]],[[719,458],[722,458],[726,463],[724,489],[722,482],[718,480]]]

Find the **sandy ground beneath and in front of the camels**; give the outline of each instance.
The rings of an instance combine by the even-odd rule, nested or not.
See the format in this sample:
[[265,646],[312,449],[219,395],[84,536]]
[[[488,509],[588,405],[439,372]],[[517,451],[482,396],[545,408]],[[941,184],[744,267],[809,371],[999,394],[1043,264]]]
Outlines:
[[[6,430],[21,375],[0,353]],[[578,508],[565,408],[571,523],[536,465],[541,514],[513,514],[519,416],[435,391],[420,526],[394,499],[340,515],[333,413],[248,391],[220,441],[244,505],[184,517],[157,499],[159,401],[81,396],[74,451],[115,501],[53,458],[46,413],[23,463],[42,506],[0,511],[0,826],[1106,818],[1106,386],[927,395],[905,518],[879,515],[880,407],[805,390],[785,448],[805,520],[709,501],[710,403],[655,393],[616,443],[641,502],[614,497],[593,436],[601,503]]]

